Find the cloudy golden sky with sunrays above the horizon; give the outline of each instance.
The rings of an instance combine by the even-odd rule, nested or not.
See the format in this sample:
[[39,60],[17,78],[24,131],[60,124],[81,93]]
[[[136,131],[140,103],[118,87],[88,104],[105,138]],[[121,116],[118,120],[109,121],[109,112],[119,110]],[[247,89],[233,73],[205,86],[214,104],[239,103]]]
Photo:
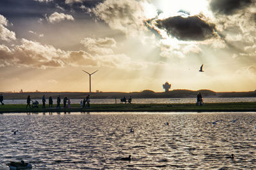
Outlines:
[[255,26],[256,0],[1,0],[0,91],[254,91]]

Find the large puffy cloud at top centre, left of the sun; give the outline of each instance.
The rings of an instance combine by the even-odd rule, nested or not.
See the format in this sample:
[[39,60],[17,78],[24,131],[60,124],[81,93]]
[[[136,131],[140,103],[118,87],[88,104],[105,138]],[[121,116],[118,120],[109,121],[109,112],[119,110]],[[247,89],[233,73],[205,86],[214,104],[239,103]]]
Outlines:
[[[136,36],[140,31],[145,31],[145,20],[148,19],[148,10],[144,8],[143,1],[135,0],[106,0],[99,3],[92,9],[92,13],[104,20],[112,29],[118,29],[125,34]],[[152,6],[152,4],[147,4]],[[157,15],[157,10],[152,6],[155,11],[150,11],[152,16]]]

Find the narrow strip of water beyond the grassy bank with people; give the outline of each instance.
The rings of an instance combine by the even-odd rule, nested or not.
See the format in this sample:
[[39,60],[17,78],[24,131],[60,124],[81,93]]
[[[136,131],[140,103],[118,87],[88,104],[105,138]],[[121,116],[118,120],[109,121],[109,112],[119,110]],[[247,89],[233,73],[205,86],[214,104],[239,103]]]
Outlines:
[[[42,104],[42,99],[32,99],[33,101],[38,101],[39,104]],[[71,104],[79,104],[83,99],[70,99]],[[62,101],[61,101],[62,102]],[[204,103],[230,103],[230,102],[256,102],[256,97],[208,97],[204,98]],[[26,104],[27,100],[22,99],[6,99],[4,104]],[[46,100],[48,103],[48,100]],[[53,99],[53,103],[57,103],[57,99]],[[121,103],[120,99],[90,99],[91,104],[115,104]],[[154,98],[154,99],[132,99],[132,103],[137,104],[182,104],[182,103],[196,103],[195,98]]]

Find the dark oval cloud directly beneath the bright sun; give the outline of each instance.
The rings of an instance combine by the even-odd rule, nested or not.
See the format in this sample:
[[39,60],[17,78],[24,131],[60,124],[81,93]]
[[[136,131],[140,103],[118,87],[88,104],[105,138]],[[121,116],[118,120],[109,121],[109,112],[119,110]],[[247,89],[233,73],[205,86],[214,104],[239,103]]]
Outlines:
[[208,24],[198,16],[187,18],[176,16],[157,20],[157,27],[166,29],[168,34],[185,41],[202,41],[215,35],[215,25]]

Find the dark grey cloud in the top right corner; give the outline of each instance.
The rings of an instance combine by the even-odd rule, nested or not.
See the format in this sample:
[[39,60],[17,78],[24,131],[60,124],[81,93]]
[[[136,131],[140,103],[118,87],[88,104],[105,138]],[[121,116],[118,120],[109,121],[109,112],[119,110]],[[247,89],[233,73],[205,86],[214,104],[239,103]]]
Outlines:
[[254,0],[212,0],[210,8],[214,13],[232,15],[237,10],[242,10],[255,3]]

